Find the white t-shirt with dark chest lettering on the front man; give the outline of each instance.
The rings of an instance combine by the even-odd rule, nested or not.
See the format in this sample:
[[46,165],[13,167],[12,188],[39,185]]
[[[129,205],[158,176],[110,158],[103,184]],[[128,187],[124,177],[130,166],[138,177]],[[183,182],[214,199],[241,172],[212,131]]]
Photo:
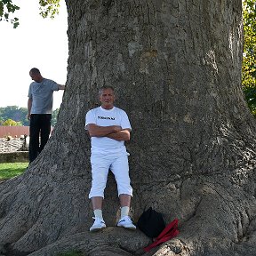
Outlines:
[[[88,111],[85,116],[85,129],[88,124],[97,124],[99,126],[111,126],[119,125],[122,129],[131,129],[131,124],[127,114],[121,108],[93,108]],[[118,141],[110,139],[108,137],[92,137],[92,153],[100,155],[115,154],[116,156],[121,156],[127,154],[126,148],[124,146],[124,141]]]

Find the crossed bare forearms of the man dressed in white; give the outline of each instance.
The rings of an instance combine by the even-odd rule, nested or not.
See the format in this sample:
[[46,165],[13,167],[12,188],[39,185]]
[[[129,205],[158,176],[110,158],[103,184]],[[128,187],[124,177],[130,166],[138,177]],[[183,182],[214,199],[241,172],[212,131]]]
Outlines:
[[87,129],[91,137],[108,137],[113,140],[130,140],[130,129],[123,129],[118,125],[99,126],[97,124],[87,124]]

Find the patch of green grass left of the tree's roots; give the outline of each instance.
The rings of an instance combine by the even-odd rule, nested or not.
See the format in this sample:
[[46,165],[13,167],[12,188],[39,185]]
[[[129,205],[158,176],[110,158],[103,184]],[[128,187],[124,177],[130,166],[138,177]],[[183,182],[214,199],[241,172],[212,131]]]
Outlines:
[[3,163],[0,164],[0,180],[7,180],[23,173],[28,163]]

